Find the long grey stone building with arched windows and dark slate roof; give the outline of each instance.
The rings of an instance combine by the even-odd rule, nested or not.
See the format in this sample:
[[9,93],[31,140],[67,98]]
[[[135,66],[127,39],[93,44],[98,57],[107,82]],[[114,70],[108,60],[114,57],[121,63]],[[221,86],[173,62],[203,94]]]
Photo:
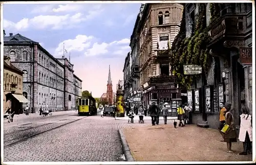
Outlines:
[[[24,73],[24,95],[30,101],[32,112],[40,107],[54,111],[73,108],[74,70],[67,58],[56,59],[38,42],[20,34],[5,36],[5,32],[4,53]],[[81,84],[81,80],[77,80]]]

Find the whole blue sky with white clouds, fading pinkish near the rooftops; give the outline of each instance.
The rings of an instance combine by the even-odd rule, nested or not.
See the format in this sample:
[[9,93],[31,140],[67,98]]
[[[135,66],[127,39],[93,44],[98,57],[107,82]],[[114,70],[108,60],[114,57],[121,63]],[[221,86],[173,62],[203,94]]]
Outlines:
[[[63,43],[71,54],[74,74],[82,90],[93,97],[106,92],[109,65],[113,91],[123,80],[124,59],[131,48],[141,4],[4,4],[6,35],[19,33],[45,48],[56,58],[63,55]],[[18,14],[17,14],[18,13]]]

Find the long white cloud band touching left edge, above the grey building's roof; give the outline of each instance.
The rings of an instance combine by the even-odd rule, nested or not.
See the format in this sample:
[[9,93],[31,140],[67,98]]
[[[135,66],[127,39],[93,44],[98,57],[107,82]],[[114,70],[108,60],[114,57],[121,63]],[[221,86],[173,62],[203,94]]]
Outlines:
[[82,21],[87,20],[83,17],[83,14],[76,13],[74,15],[38,15],[32,19],[23,18],[18,22],[12,22],[4,19],[4,28],[10,29],[12,31],[22,31],[27,29],[62,29],[69,28],[69,26],[74,26]]

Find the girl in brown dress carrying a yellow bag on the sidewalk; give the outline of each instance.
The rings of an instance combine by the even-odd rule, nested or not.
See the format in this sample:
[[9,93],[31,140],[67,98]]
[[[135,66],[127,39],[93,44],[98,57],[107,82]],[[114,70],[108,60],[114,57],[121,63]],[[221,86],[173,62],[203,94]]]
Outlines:
[[226,111],[224,112],[225,121],[226,121],[225,125],[228,126],[228,129],[226,130],[225,133],[223,133],[223,137],[224,137],[224,142],[227,143],[227,152],[233,153],[233,151],[231,151],[231,147],[233,142],[237,142],[237,132],[236,132],[236,127],[234,125],[233,115],[230,112],[230,110],[232,109],[232,105],[230,103],[226,103],[225,108],[226,108]]

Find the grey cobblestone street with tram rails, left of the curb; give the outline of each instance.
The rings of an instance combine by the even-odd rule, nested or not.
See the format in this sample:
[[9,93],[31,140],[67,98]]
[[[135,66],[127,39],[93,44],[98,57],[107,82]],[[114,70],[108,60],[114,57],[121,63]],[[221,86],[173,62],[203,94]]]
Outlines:
[[5,129],[5,146],[42,133],[5,147],[4,161],[124,161],[120,158],[122,148],[114,117],[69,115]]

